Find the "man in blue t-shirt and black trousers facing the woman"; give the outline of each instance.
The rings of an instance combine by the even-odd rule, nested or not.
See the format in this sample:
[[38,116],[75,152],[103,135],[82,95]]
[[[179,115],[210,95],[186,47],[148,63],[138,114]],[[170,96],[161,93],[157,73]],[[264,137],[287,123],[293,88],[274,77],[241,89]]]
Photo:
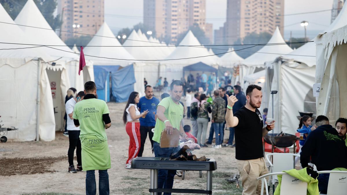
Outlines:
[[140,98],[140,101],[138,102],[138,109],[141,110],[148,110],[148,114],[145,116],[145,118],[140,118],[140,134],[141,134],[141,147],[137,154],[137,156],[142,156],[143,148],[147,139],[147,133],[149,135],[151,145],[152,145],[152,153],[153,153],[153,132],[152,129],[155,126],[155,113],[156,113],[156,106],[159,104],[159,100],[156,97],[153,97],[153,87],[150,85],[147,85],[145,88],[145,96]]

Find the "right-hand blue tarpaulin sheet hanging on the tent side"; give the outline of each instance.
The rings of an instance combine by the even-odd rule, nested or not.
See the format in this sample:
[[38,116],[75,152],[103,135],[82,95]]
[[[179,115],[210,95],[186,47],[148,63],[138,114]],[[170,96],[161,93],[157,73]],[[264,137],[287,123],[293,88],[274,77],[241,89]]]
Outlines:
[[111,74],[112,95],[116,102],[125,102],[128,100],[131,92],[134,91],[136,83],[133,65],[129,65]]

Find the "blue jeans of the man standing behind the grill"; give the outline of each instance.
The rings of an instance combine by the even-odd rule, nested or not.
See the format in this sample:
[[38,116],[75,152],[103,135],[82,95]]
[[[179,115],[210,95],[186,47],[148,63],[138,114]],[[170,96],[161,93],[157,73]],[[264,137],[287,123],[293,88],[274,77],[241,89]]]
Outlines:
[[[161,148],[158,142],[153,144],[155,157],[166,157],[169,158],[172,153],[178,152],[179,147],[167,147]],[[174,185],[174,177],[176,175],[176,170],[158,170],[158,188],[168,188],[172,189]],[[169,195],[171,193],[164,193],[164,195]],[[161,195],[161,193],[158,193]]]

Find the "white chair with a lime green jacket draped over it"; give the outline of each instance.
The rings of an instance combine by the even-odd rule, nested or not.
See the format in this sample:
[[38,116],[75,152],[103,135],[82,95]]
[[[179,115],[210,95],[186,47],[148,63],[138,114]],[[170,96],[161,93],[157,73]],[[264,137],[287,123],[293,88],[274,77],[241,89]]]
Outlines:
[[[307,194],[307,183],[304,181],[301,181],[293,176],[288,175],[286,172],[273,172],[268,173],[266,175],[263,175],[261,177],[258,177],[257,180],[261,180],[261,193],[264,193],[264,186],[267,184],[265,177],[271,177],[271,176],[277,176],[282,175],[282,182],[281,182],[281,192],[280,195],[306,195]],[[268,188],[265,188],[266,195],[269,195]]]

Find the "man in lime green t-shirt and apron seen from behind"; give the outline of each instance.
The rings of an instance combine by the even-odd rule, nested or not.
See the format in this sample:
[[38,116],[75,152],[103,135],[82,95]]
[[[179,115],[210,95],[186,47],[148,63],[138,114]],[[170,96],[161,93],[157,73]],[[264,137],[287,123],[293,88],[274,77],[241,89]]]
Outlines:
[[109,194],[107,169],[111,168],[110,151],[105,129],[111,127],[109,109],[96,99],[96,85],[84,84],[84,99],[74,108],[74,124],[79,127],[82,146],[82,168],[86,173],[86,194],[96,194],[95,170],[99,170],[99,194]]

